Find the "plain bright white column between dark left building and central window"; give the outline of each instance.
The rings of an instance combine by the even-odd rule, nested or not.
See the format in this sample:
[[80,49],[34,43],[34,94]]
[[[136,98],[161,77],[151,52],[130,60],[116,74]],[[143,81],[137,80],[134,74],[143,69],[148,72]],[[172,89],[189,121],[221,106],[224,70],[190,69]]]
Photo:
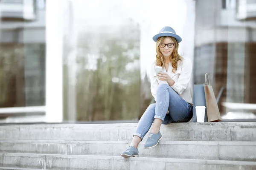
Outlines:
[[46,122],[63,120],[63,0],[46,1]]

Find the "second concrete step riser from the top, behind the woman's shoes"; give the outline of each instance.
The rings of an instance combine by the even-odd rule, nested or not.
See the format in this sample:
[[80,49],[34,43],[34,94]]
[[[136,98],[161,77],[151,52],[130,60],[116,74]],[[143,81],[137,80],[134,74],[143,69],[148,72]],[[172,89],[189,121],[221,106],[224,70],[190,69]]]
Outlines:
[[[0,141],[0,153],[40,153],[63,155],[120,156],[131,141]],[[157,147],[144,149],[142,157],[256,161],[256,142],[160,141]]]

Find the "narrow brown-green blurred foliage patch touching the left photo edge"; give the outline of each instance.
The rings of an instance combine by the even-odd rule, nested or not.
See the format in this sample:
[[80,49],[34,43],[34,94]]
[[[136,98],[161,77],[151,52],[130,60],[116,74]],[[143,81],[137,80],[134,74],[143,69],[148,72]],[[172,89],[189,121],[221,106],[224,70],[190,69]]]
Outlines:
[[22,81],[24,84],[24,50],[22,45],[6,44],[0,46],[0,79],[0,108],[24,106],[24,90],[18,91],[20,87],[17,87],[17,82]]

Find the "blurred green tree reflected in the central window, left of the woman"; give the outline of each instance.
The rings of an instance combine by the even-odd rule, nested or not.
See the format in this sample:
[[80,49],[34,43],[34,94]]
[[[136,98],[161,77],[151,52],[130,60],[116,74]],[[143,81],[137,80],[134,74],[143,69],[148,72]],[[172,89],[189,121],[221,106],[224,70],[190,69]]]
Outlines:
[[79,36],[76,87],[79,121],[139,116],[140,28],[137,25],[131,26],[131,30],[122,28],[114,34],[90,32]]

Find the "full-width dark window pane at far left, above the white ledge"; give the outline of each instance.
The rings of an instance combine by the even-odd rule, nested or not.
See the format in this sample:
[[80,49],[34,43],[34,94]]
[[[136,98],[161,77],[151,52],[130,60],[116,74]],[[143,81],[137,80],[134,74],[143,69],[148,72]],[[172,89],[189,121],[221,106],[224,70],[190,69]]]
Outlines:
[[45,105],[45,44],[2,44],[0,79],[0,107]]

